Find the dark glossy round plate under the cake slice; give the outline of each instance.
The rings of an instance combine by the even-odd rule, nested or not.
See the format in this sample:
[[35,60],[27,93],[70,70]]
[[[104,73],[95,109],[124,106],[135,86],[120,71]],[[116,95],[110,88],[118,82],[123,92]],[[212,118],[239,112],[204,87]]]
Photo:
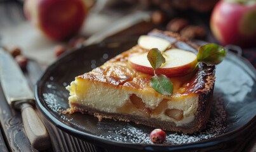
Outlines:
[[97,118],[81,113],[63,115],[61,111],[69,107],[69,92],[65,87],[74,77],[126,51],[137,43],[136,40],[112,39],[62,56],[37,82],[39,110],[65,132],[108,151],[239,151],[255,136],[256,72],[250,63],[233,53],[228,53],[227,58],[217,66],[215,102],[207,127],[202,132],[191,135],[167,132],[164,144],[152,144],[149,140],[151,127],[114,120],[98,122]]

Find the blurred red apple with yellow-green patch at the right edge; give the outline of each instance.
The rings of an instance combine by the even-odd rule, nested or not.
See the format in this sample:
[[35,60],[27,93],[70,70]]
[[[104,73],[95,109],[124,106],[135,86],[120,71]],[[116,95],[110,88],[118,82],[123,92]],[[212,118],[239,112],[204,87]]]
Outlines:
[[210,27],[222,45],[255,46],[256,2],[219,1],[213,9]]

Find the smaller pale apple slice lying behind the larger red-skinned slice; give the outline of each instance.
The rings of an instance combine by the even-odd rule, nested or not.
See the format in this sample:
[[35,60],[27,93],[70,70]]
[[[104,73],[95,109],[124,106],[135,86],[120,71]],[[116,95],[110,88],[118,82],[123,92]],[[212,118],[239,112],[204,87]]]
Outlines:
[[144,49],[158,48],[159,51],[165,51],[170,45],[171,43],[167,40],[150,35],[141,35],[138,38],[138,46]]

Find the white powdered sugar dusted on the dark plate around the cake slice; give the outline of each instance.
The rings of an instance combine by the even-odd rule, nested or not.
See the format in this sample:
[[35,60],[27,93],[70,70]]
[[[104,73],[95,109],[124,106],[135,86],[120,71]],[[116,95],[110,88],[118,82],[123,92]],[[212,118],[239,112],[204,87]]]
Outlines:
[[[50,108],[55,113],[60,115],[60,118],[65,124],[72,124],[75,128],[79,130],[84,130],[85,132],[91,131],[87,130],[86,125],[83,122],[79,122],[79,118],[76,120],[74,115],[62,115],[62,110],[68,108],[68,104],[63,99],[67,99],[67,95],[56,94],[55,85],[47,84],[48,87],[51,87],[51,91],[43,94],[44,101],[48,108]],[[56,87],[58,88],[58,87]],[[65,96],[65,97],[64,97]],[[60,98],[62,97],[62,98]],[[181,134],[177,132],[166,132],[166,141],[164,144],[186,144],[194,143],[196,141],[202,141],[205,139],[210,139],[212,137],[219,136],[226,131],[226,128],[232,125],[231,123],[227,124],[226,121],[226,110],[224,108],[224,99],[223,94],[220,92],[215,92],[213,98],[213,105],[210,119],[206,125],[206,129],[198,132],[196,134]],[[83,114],[81,114],[83,115]],[[76,115],[79,117],[81,115]],[[74,117],[74,118],[73,118]],[[83,115],[83,118],[93,117]],[[91,120],[87,120],[91,121]],[[149,139],[149,134],[153,130],[151,127],[138,127],[134,123],[126,122],[115,122],[112,120],[103,120],[102,122],[90,122],[90,125],[96,127],[97,130],[102,130],[100,132],[93,131],[93,134],[96,136],[104,137],[105,139],[110,139],[114,141],[120,141],[125,143],[136,143],[136,144],[152,144]],[[94,124],[95,123],[95,124]]]

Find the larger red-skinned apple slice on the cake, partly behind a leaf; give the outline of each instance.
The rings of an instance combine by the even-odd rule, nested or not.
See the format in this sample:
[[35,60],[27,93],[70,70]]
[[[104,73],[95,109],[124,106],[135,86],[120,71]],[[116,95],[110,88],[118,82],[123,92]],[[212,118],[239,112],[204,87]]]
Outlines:
[[[180,77],[190,73],[198,63],[196,54],[182,49],[169,49],[163,53],[166,62],[156,69],[156,73],[161,73],[167,77]],[[133,68],[139,72],[154,75],[154,70],[147,60],[147,53],[131,56],[129,62]]]

